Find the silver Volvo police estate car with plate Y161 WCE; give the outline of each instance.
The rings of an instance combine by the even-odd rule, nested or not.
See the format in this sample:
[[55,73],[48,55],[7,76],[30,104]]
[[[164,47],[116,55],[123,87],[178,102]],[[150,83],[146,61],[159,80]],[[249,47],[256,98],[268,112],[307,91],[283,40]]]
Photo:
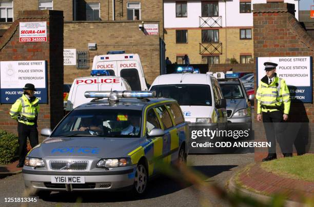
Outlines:
[[[94,91],[27,155],[23,177],[32,194],[115,191],[142,195],[154,161],[186,162],[188,126],[173,99],[149,91]],[[104,98],[104,99],[103,99]],[[108,98],[108,99],[107,99]]]

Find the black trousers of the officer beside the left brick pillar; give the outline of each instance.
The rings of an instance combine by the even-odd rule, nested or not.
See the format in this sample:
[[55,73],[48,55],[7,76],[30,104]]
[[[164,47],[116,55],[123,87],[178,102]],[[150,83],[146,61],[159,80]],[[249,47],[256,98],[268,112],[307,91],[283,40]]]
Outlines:
[[17,122],[17,132],[19,163],[24,163],[24,159],[27,154],[27,137],[29,138],[32,148],[35,147],[38,144],[38,131],[36,125],[29,126],[24,123]]

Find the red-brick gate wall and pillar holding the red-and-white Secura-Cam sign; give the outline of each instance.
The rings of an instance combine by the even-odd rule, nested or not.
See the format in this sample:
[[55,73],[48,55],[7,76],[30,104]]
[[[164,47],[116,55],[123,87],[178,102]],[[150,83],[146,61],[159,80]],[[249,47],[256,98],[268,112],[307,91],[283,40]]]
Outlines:
[[[20,43],[19,22],[47,22],[47,42]],[[63,13],[62,11],[22,11],[0,39],[0,59],[47,60],[48,104],[41,104],[38,131],[54,128],[63,117]],[[36,86],[36,84],[35,84]],[[11,119],[11,104],[0,105],[0,129],[17,133],[16,121]]]

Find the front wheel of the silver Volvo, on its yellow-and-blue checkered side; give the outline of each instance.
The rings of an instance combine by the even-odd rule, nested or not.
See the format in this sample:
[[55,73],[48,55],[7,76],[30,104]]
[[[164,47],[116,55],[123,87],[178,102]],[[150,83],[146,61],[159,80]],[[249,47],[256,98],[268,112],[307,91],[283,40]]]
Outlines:
[[133,193],[135,195],[143,195],[146,192],[148,184],[148,173],[145,165],[139,163],[136,167]]

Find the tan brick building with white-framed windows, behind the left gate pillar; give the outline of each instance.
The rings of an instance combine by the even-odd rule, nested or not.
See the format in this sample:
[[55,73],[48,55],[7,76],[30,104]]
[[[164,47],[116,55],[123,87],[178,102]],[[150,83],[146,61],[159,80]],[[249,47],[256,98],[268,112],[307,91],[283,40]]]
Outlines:
[[[164,63],[161,0],[1,0],[0,9],[0,36],[18,18],[19,11],[64,12],[64,49],[75,49],[76,53],[76,63],[64,66],[65,83],[89,76],[93,57],[110,50],[138,53],[147,82],[160,74]],[[159,35],[145,35],[139,30],[143,22],[144,26],[158,25]],[[89,50],[89,43],[95,43],[96,50]]]

